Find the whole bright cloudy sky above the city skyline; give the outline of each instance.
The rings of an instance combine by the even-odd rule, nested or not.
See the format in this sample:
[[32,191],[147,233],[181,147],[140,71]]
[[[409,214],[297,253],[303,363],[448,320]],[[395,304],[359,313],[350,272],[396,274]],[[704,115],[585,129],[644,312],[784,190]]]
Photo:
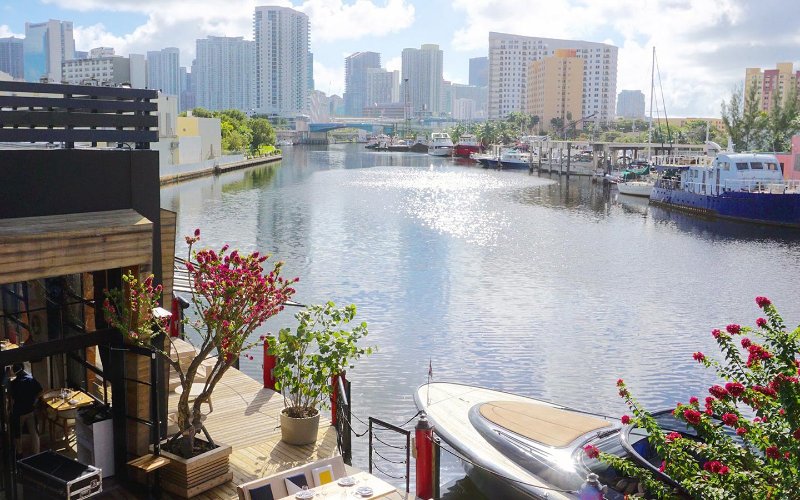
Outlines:
[[0,0],[0,37],[24,36],[26,21],[72,21],[78,50],[178,47],[190,67],[198,38],[252,40],[256,5],[308,14],[315,87],[327,94],[344,91],[347,55],[379,52],[399,70],[402,50],[424,43],[444,51],[445,80],[467,83],[490,31],[616,45],[617,91],[642,90],[648,102],[656,47],[656,97],[669,116],[719,116],[747,67],[800,69],[800,0]]

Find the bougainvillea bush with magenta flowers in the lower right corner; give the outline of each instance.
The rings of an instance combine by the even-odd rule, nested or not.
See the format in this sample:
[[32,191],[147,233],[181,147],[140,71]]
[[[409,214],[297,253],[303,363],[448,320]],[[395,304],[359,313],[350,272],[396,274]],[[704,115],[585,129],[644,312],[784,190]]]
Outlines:
[[673,411],[696,437],[659,429],[624,381],[617,382],[633,414],[623,420],[649,432],[651,446],[663,459],[659,471],[672,485],[628,460],[596,449],[587,454],[638,477],[659,498],[798,498],[800,327],[787,330],[766,297],[757,297],[756,303],[765,317],[756,320],[755,328],[730,324],[712,330],[719,360],[702,352],[693,355],[720,379],[708,395],[693,396]]

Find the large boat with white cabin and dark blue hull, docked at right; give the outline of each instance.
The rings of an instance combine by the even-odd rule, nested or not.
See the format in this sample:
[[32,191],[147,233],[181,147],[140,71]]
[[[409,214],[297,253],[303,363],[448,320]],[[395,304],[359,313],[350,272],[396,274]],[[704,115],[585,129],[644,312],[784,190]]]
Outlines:
[[800,182],[783,178],[774,155],[661,156],[654,204],[700,215],[800,228]]

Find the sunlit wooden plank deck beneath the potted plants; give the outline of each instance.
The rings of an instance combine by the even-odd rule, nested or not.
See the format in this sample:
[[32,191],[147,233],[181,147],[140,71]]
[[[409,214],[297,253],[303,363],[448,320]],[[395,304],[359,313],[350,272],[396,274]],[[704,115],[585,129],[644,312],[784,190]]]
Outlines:
[[[170,394],[169,405],[174,411],[178,395]],[[317,442],[307,446],[292,446],[280,441],[279,415],[283,409],[280,394],[264,389],[244,373],[230,368],[212,395],[214,411],[205,420],[206,428],[215,441],[231,445],[233,481],[218,486],[194,498],[231,500],[238,498],[236,485],[269,476],[299,465],[336,455],[336,430],[324,413],[320,418]],[[206,410],[207,405],[203,405]],[[114,488],[99,498],[138,499],[141,491]],[[164,494],[163,498],[169,498]],[[399,498],[399,497],[398,497]]]

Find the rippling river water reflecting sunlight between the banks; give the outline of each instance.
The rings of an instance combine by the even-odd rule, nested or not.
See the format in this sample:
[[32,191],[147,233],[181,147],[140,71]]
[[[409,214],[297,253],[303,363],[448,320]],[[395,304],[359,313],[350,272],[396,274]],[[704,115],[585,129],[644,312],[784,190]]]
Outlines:
[[[800,232],[650,207],[588,178],[351,144],[287,148],[279,164],[161,199],[178,212],[179,255],[199,227],[205,245],[285,261],[300,302],[357,305],[378,347],[350,371],[363,421],[411,418],[429,366],[436,381],[612,415],[624,378],[647,406],[671,406],[705,394],[713,377],[692,353],[715,352],[712,328],[753,325],[755,296],[800,322]],[[291,324],[287,310],[264,331]],[[260,380],[252,355],[242,369]],[[354,438],[354,465],[366,464],[366,437]],[[463,472],[445,456],[442,475]]]

